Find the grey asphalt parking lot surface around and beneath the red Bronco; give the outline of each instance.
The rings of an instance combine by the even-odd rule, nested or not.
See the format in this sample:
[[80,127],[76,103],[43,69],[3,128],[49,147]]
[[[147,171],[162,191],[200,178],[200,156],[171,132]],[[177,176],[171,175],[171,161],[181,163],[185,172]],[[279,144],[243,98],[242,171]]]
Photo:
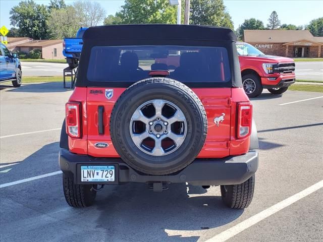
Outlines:
[[62,83],[0,91],[1,241],[322,241],[322,93],[252,99],[260,141],[254,199],[231,210],[219,187],[185,184],[162,193],[105,186],[94,206],[69,207],[57,171],[71,92]]

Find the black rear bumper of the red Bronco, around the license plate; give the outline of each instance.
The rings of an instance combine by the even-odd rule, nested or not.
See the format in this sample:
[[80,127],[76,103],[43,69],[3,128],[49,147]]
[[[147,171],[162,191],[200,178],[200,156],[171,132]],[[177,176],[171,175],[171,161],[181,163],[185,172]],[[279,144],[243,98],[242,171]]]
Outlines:
[[[59,164],[61,170],[73,178],[76,184],[83,183],[80,178],[81,165],[115,165],[116,181],[114,183],[190,183],[192,185],[235,185],[250,178],[258,168],[258,151],[250,150],[247,154],[229,156],[222,159],[195,159],[183,170],[169,175],[147,175],[132,169],[121,158],[95,158],[77,155],[66,149],[60,149]],[[97,183],[92,183],[97,184]]]

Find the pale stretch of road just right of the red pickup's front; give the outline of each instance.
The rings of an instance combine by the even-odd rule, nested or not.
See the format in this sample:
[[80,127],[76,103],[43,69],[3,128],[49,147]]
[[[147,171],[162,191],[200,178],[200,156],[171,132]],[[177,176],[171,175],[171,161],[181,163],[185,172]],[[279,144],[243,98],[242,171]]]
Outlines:
[[296,62],[296,79],[323,82],[323,62]]

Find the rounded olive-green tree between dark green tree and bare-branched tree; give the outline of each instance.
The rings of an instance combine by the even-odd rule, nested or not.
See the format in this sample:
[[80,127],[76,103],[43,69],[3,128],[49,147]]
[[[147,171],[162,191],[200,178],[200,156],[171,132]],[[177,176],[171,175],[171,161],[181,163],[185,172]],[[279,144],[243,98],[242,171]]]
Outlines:
[[81,27],[77,22],[76,11],[72,6],[61,9],[52,9],[47,21],[50,39],[75,37]]

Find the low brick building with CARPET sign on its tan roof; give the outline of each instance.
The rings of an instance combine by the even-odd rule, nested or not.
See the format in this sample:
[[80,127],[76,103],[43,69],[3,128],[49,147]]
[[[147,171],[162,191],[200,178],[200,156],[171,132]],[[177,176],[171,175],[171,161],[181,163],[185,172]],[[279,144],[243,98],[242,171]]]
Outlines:
[[265,54],[323,57],[323,37],[314,37],[308,30],[244,30],[243,41]]

